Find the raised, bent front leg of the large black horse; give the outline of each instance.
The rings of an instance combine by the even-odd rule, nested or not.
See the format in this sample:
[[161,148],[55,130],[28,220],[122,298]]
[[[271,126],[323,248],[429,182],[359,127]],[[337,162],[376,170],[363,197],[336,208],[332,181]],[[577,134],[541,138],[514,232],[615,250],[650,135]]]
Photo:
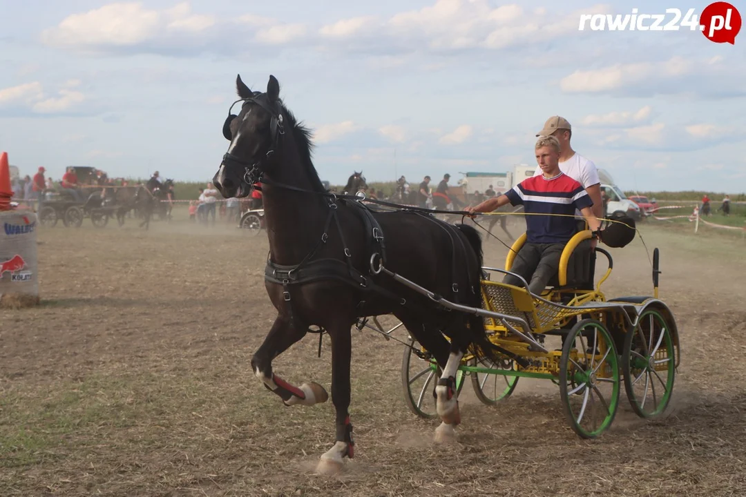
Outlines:
[[303,338],[307,331],[297,329],[285,317],[278,315],[264,343],[251,358],[254,374],[262,380],[265,387],[280,396],[285,405],[314,405],[326,402],[329,398],[324,387],[318,383],[304,383],[295,387],[272,372],[272,359]]

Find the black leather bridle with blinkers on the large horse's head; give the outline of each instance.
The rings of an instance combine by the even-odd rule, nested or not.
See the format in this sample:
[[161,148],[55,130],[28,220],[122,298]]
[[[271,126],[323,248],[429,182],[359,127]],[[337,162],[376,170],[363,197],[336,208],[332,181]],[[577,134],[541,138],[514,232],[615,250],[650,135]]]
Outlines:
[[238,102],[243,102],[242,106],[248,102],[257,104],[272,116],[271,121],[269,122],[269,136],[271,143],[269,145],[269,150],[266,151],[263,157],[259,160],[245,160],[230,152],[226,152],[223,155],[224,165],[228,166],[233,164],[245,168],[242,180],[248,186],[253,186],[269,168],[269,165],[267,165],[266,162],[269,162],[269,159],[275,154],[275,149],[277,149],[280,144],[280,136],[285,134],[284,119],[280,106],[275,102],[269,101],[269,97],[266,93],[254,92],[254,96],[249,98],[239,98],[231,104],[231,109],[228,110],[228,118],[225,119],[225,124],[223,124],[223,136],[225,136],[225,139],[233,139],[231,136],[231,122],[233,122],[233,119],[238,116],[236,114],[231,114],[231,110],[233,110],[233,106]]

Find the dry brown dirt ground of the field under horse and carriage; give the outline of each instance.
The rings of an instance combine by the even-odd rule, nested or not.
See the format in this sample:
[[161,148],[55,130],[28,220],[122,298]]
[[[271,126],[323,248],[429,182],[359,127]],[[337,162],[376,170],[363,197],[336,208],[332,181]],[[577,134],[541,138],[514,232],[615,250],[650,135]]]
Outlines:
[[[436,446],[437,423],[404,403],[403,346],[353,330],[357,450],[337,477],[313,473],[333,443],[331,402],[286,408],[249,367],[275,317],[266,235],[40,229],[43,303],[0,310],[0,495],[743,495],[746,242],[690,228],[642,227],[682,341],[663,419],[636,417],[622,389],[612,427],[586,441],[553,384],[521,382],[492,408],[467,384],[459,442]],[[485,243],[501,267],[504,247]],[[607,297],[650,294],[641,241],[611,252]],[[328,339],[317,347],[309,335],[275,371],[328,390]]]

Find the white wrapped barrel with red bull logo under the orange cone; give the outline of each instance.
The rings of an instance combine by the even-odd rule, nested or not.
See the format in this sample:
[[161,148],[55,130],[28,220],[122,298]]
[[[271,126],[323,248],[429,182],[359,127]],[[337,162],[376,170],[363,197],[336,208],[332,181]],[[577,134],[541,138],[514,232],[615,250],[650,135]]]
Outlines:
[[37,225],[34,212],[0,212],[0,298],[39,296]]

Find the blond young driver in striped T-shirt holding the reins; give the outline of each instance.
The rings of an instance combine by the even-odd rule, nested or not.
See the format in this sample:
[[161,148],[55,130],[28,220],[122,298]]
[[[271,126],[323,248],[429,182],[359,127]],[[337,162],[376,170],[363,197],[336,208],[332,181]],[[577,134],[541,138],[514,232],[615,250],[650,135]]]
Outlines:
[[[565,244],[577,232],[573,217],[579,210],[593,232],[598,233],[601,221],[593,214],[593,200],[576,180],[560,171],[560,142],[554,136],[540,136],[534,146],[536,162],[542,171],[521,181],[499,197],[492,197],[467,212],[492,212],[511,203],[523,205],[526,212],[526,242],[518,251],[511,271],[528,282],[528,289],[540,295],[560,268],[560,256]],[[503,282],[522,286],[511,274]]]

